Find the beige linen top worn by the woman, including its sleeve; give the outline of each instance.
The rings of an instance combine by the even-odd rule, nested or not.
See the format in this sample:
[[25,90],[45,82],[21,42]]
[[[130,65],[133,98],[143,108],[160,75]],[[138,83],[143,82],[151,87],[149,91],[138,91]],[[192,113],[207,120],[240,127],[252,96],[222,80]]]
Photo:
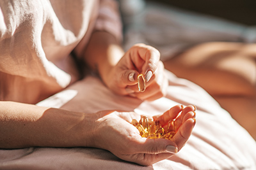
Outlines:
[[94,30],[122,38],[115,1],[0,1],[0,100],[37,103],[76,81],[70,52]]

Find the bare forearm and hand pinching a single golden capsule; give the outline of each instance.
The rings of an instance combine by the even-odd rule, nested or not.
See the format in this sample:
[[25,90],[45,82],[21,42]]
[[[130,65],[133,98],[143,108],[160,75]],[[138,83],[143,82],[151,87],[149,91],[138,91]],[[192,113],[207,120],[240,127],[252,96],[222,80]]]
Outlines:
[[[147,101],[166,95],[168,81],[156,48],[137,44],[124,52],[111,34],[94,32],[86,50],[81,51],[78,45],[77,55],[99,73],[105,85],[116,94],[131,95]],[[131,74],[134,81],[129,78]],[[138,90],[138,74],[143,74],[145,78],[148,77],[147,74],[150,75],[143,93]]]

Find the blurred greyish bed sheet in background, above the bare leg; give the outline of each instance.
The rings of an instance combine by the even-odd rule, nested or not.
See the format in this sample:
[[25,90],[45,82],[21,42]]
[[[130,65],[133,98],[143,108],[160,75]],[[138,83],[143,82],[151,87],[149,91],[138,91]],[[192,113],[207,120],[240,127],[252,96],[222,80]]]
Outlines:
[[152,1],[147,1],[140,9],[136,3],[130,5],[133,8],[121,3],[125,50],[135,43],[145,43],[161,52],[161,60],[168,60],[191,46],[209,41],[256,41],[256,27],[253,25]]

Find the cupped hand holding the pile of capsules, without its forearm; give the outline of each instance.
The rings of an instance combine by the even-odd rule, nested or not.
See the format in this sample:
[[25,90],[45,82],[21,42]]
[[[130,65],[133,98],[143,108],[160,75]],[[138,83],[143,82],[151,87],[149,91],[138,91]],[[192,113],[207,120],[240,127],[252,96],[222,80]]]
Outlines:
[[92,146],[109,150],[117,157],[143,166],[154,164],[177,153],[188,141],[195,125],[195,108],[174,106],[163,115],[154,117],[165,124],[177,117],[177,134],[168,139],[147,139],[140,136],[132,119],[140,120],[141,115],[134,112],[99,111],[93,131]]

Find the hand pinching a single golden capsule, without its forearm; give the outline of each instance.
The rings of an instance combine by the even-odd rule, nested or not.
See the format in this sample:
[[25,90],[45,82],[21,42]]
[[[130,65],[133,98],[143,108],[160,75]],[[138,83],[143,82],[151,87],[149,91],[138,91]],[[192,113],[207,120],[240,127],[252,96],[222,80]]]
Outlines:
[[[109,89],[120,95],[130,95],[154,101],[166,95],[168,80],[156,48],[144,44],[132,46],[108,74]],[[140,92],[137,77],[143,74],[146,90]]]

